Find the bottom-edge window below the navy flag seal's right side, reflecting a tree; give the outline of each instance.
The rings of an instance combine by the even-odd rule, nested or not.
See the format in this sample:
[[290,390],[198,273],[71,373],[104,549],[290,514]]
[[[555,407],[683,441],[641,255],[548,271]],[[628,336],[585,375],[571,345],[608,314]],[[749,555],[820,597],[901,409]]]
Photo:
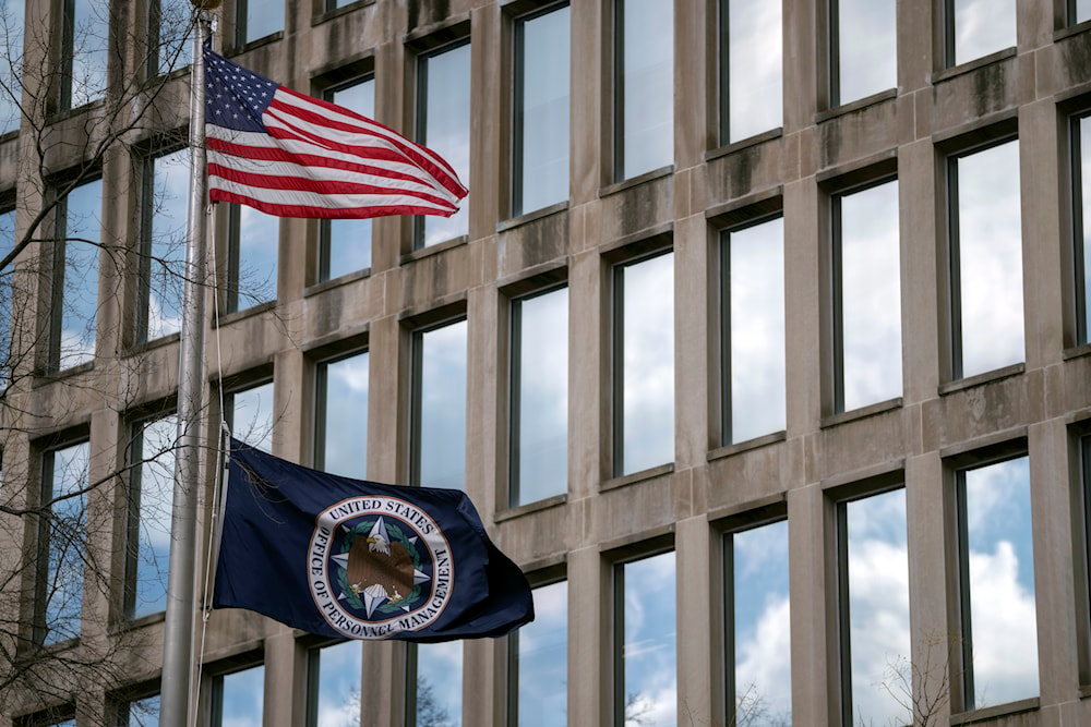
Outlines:
[[407,727],[463,724],[463,643],[409,644]]

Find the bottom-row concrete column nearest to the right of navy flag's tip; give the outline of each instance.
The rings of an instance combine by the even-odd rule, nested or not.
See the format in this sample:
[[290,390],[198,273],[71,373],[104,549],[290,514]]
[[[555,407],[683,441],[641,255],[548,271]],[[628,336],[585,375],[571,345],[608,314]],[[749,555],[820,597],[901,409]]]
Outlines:
[[610,569],[598,547],[568,554],[568,724],[611,725],[613,639]]

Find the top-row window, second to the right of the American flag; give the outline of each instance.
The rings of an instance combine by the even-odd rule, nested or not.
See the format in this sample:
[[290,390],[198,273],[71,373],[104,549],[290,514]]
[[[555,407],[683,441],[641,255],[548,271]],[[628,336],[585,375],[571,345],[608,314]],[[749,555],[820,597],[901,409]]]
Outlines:
[[674,161],[674,9],[614,0],[614,181]]

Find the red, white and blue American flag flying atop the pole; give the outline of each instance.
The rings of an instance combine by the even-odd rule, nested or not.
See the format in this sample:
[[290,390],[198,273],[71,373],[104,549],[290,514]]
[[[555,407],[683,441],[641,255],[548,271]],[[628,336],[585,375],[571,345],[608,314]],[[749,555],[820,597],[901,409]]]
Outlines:
[[208,197],[278,217],[458,210],[467,190],[434,152],[204,48]]

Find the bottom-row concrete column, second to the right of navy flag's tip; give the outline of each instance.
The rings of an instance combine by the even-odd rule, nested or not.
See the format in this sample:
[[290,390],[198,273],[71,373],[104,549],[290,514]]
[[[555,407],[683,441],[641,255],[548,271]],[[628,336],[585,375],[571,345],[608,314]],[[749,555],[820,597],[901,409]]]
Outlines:
[[[714,620],[721,599],[711,575],[711,533],[704,516],[679,521],[674,531],[678,589],[678,702],[680,725],[718,724],[723,683],[722,627]],[[681,587],[685,584],[685,587]]]

